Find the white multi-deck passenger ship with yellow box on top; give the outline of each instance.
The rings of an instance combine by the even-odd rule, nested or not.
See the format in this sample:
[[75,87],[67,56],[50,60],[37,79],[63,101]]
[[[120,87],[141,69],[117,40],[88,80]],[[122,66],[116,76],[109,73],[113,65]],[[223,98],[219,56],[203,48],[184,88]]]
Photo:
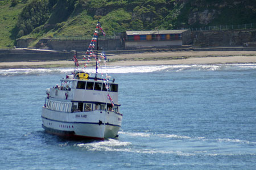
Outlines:
[[60,86],[47,89],[42,126],[48,133],[79,139],[117,137],[122,123],[118,84],[114,79],[97,78],[97,68],[96,64],[95,76],[76,71],[61,79]]

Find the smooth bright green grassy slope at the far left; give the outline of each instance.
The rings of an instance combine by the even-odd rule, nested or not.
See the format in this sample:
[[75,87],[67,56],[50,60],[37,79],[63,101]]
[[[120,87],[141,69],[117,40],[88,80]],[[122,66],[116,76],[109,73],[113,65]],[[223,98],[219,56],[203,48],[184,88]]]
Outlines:
[[0,2],[0,48],[12,47],[14,45],[11,32],[23,7],[24,4],[22,3],[15,7],[10,7],[10,2]]

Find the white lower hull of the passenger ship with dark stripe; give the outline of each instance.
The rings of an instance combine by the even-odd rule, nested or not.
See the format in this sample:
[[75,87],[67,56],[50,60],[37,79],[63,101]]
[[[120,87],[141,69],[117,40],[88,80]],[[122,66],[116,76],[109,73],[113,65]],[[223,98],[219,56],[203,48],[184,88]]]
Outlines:
[[114,138],[121,128],[122,115],[110,111],[57,112],[42,110],[43,128],[47,132],[74,138]]

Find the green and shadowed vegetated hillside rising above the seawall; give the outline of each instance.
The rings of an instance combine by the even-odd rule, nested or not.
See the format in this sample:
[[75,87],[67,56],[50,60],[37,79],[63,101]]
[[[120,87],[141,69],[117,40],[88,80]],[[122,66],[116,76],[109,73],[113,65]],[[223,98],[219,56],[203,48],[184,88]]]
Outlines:
[[[0,0],[0,48],[16,39],[108,36],[126,30],[255,23],[250,0]],[[228,17],[227,17],[228,16]]]

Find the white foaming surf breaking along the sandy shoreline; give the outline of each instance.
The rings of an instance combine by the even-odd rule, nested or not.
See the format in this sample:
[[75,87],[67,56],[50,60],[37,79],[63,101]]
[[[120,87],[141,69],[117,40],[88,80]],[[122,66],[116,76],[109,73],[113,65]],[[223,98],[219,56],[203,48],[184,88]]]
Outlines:
[[[155,66],[110,66],[107,68],[110,74],[123,73],[152,73],[158,71],[217,71],[217,70],[248,70],[256,69],[256,64],[224,64],[224,65],[155,65]],[[74,69],[69,68],[50,68],[50,69],[0,69],[0,76],[15,75],[47,75],[47,74],[70,74]],[[88,67],[86,73],[95,73],[93,67]],[[104,68],[98,73],[106,73]]]

